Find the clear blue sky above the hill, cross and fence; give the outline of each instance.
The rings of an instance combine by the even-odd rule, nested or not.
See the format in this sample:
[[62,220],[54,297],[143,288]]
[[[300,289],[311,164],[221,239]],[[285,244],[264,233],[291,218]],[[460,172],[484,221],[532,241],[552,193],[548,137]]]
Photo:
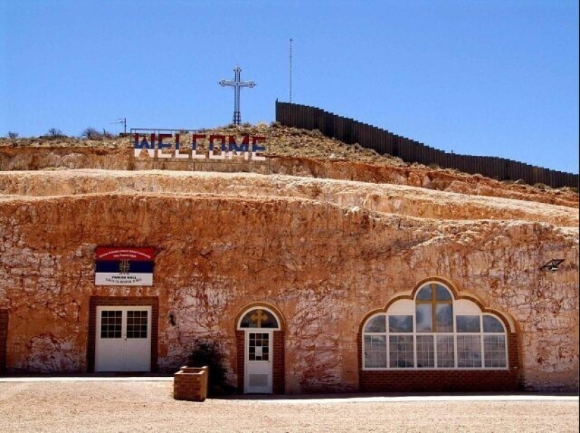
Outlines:
[[579,173],[576,0],[0,0],[0,135],[229,124],[276,98]]

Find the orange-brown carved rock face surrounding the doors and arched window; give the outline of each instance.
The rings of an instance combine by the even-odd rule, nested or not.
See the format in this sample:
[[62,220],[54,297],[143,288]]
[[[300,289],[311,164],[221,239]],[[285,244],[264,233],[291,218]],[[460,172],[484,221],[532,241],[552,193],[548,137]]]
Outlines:
[[[160,367],[210,337],[234,380],[234,318],[263,301],[285,315],[287,391],[352,391],[363,317],[437,276],[513,319],[524,387],[577,389],[577,208],[251,173],[11,172],[0,193],[9,368],[84,371],[89,296],[158,296]],[[94,286],[106,245],[155,247],[155,285]]]

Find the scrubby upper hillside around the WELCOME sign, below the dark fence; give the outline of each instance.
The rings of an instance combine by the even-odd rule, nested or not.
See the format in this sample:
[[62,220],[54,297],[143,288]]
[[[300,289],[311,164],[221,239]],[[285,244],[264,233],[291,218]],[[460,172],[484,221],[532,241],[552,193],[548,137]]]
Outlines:
[[[336,180],[355,180],[373,184],[388,183],[460,194],[503,197],[524,201],[579,207],[579,195],[568,188],[550,189],[543,185],[498,182],[482,175],[406,164],[389,155],[379,155],[359,145],[344,145],[318,131],[266,125],[251,128],[214,128],[203,131],[223,135],[259,135],[266,140],[266,161],[260,164],[219,164],[196,161],[183,164],[170,159],[133,157],[131,138],[78,140],[75,138],[0,138],[0,171],[62,170],[101,168],[106,170],[151,170],[250,172],[267,175],[295,175]],[[207,141],[207,140],[206,140]],[[191,138],[182,135],[183,146]],[[207,152],[207,142],[200,142]]]

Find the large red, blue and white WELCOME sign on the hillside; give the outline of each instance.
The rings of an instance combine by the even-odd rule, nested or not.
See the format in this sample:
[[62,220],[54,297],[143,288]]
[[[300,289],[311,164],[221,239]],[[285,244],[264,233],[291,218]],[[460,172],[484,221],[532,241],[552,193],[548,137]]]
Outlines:
[[252,161],[264,161],[262,152],[266,147],[262,143],[266,137],[262,135],[243,134],[198,134],[181,136],[179,133],[134,133],[134,157],[148,154],[156,157],[174,160],[195,159],[233,159],[234,157]]

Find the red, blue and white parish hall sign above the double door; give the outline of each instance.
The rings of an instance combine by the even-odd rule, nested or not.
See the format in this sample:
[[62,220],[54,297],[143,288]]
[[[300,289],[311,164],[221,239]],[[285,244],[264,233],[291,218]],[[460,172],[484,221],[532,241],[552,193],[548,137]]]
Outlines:
[[153,286],[154,248],[98,246],[95,286]]

